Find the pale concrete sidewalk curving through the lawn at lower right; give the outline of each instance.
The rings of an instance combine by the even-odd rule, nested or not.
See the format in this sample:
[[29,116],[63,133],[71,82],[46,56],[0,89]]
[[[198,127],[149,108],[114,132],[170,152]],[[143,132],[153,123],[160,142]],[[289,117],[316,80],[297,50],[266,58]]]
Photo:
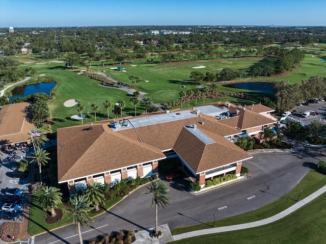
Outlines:
[[[312,200],[319,197],[321,194],[323,194],[325,192],[326,192],[326,185],[321,187],[318,191],[314,192],[310,196],[301,200],[300,202],[297,202],[296,204],[292,205],[291,207],[285,209],[284,211],[282,211],[274,216],[271,216],[267,219],[264,219],[264,220],[255,221],[255,222],[246,223],[246,224],[240,224],[240,225],[231,225],[231,226],[224,226],[224,227],[217,227],[217,228],[210,228],[210,229],[186,232],[186,233],[174,235],[173,239],[181,240],[181,239],[199,236],[199,235],[207,235],[207,234],[212,234],[212,233],[220,233],[220,232],[233,231],[233,230],[242,230],[242,229],[248,229],[248,228],[253,228],[253,227],[257,227],[257,226],[267,225],[269,223],[272,223],[272,222],[275,222],[275,221],[278,221],[278,220],[284,218],[285,216],[287,216],[290,213],[294,212],[295,210],[303,207],[304,205],[311,202]],[[152,243],[152,242],[148,242],[148,243]]]

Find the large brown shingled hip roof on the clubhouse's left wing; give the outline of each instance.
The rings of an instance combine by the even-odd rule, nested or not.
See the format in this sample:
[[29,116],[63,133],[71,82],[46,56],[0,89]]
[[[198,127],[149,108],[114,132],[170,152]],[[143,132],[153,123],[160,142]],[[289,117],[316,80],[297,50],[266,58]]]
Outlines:
[[58,129],[59,182],[165,158],[161,151],[104,129],[105,126]]

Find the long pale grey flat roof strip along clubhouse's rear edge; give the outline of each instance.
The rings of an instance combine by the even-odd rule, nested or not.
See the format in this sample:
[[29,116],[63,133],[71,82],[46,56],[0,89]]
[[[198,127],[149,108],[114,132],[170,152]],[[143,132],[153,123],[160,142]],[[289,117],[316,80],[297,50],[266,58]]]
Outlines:
[[[191,111],[177,111],[173,113],[166,113],[166,114],[159,114],[159,115],[151,115],[147,117],[141,117],[141,118],[134,118],[134,119],[125,119],[125,123],[121,122],[114,122],[111,123],[110,127],[114,131],[123,130],[123,129],[130,129],[132,127],[142,127],[142,126],[148,126],[153,124],[159,124],[159,123],[166,123],[170,121],[175,120],[182,120],[182,119],[188,119],[188,118],[194,118],[198,115],[192,113]],[[119,126],[121,125],[121,126]]]

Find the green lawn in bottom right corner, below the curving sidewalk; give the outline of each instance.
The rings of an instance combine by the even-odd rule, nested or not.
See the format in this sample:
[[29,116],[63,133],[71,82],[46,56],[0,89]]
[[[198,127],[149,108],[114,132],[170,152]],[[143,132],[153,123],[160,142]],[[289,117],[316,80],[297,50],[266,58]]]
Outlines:
[[306,244],[325,243],[326,195],[323,194],[285,218],[256,228],[197,236],[169,243],[177,244]]

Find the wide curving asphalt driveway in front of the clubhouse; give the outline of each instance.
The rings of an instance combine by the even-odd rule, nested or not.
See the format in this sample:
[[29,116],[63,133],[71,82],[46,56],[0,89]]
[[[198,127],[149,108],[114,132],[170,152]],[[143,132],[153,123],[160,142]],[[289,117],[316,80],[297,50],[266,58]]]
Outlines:
[[[299,145],[291,152],[255,154],[243,162],[250,169],[251,178],[214,189],[200,195],[187,191],[188,181],[178,179],[168,183],[171,205],[159,208],[158,225],[177,226],[205,223],[227,218],[262,207],[287,194],[319,160],[326,160],[326,149]],[[162,176],[161,176],[162,177]],[[150,210],[151,196],[142,187],[112,209],[95,218],[90,228],[83,229],[84,240],[111,235],[120,230],[146,230],[155,225]],[[296,201],[297,196],[293,196]],[[289,199],[289,201],[292,201]],[[250,221],[250,220],[249,220]],[[49,231],[35,237],[38,243],[78,243],[74,225]]]

